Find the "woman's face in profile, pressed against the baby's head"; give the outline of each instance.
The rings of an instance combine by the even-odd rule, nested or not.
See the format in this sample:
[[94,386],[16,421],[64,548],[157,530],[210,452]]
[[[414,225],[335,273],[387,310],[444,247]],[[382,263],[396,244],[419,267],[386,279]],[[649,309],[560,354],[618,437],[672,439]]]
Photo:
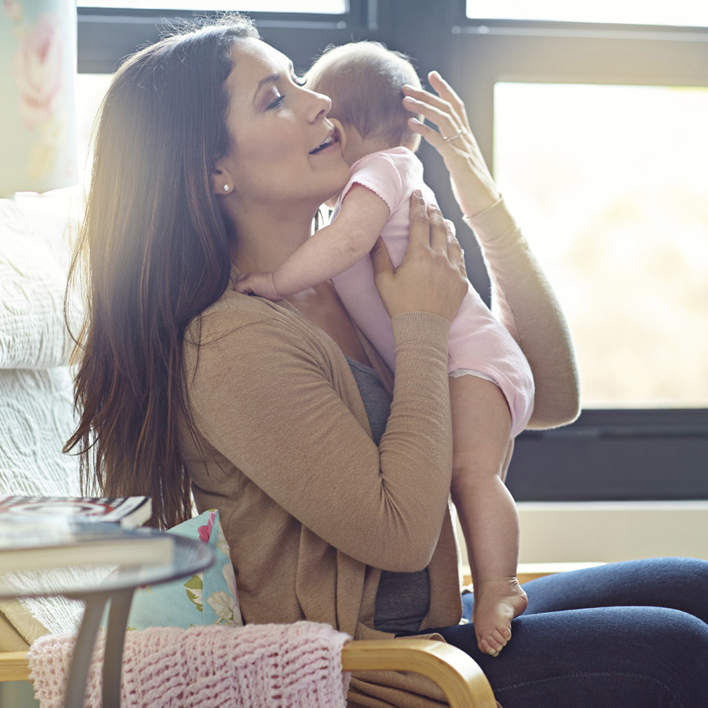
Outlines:
[[260,40],[232,47],[232,151],[219,162],[246,204],[318,207],[343,188],[349,168],[326,115],[331,101],[301,86],[292,62]]

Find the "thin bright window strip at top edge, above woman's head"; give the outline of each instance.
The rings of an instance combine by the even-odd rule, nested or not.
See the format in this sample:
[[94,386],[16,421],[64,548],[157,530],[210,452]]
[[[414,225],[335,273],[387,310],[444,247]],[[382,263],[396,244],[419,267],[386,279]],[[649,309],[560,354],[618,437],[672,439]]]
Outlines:
[[253,12],[312,12],[343,15],[347,0],[79,0],[79,7],[116,7],[141,10],[241,10]]

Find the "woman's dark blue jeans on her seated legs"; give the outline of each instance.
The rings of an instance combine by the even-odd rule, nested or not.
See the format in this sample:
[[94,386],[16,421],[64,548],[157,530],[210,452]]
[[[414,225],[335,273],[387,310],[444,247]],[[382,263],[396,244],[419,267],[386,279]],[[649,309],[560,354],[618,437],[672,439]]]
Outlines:
[[708,561],[613,563],[523,587],[528,608],[496,658],[472,624],[426,629],[479,663],[504,708],[708,707]]

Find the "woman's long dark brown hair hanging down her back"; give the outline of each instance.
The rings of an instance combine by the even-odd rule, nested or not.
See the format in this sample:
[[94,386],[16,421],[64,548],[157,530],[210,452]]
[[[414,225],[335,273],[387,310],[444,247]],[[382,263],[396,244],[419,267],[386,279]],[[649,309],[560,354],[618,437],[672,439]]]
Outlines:
[[[164,38],[115,74],[98,122],[70,287],[76,336],[76,448],[84,492],[152,497],[151,523],[191,515],[181,426],[183,337],[229,284],[230,238],[211,176],[230,147],[229,49],[256,38],[240,16]],[[68,291],[67,291],[68,294]]]

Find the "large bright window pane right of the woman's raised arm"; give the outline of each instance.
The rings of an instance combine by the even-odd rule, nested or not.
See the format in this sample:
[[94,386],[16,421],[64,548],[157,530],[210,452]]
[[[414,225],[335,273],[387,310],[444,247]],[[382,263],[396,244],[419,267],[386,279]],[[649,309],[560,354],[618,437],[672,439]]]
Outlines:
[[498,83],[494,115],[583,406],[708,407],[708,89]]

